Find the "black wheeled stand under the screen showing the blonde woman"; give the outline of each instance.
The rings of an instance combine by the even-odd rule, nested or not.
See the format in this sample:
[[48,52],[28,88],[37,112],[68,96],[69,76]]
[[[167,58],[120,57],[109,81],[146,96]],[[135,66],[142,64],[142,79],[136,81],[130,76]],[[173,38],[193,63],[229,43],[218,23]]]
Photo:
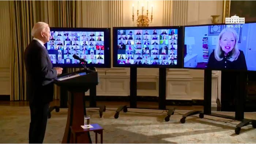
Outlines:
[[204,111],[191,111],[184,114],[180,120],[181,123],[185,123],[185,119],[188,116],[199,114],[200,118],[204,117],[204,114],[215,117],[223,117],[231,120],[241,121],[236,125],[235,133],[240,133],[241,127],[252,124],[253,128],[256,128],[256,120],[244,119],[244,103],[246,97],[246,72],[232,72],[236,73],[236,116],[226,116],[222,114],[211,113],[211,70],[204,70]]

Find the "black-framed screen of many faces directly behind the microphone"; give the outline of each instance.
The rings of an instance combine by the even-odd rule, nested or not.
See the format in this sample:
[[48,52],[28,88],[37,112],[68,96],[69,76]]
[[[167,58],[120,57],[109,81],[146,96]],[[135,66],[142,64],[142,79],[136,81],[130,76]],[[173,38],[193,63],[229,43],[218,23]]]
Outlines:
[[81,67],[77,55],[87,67],[110,67],[110,28],[50,28],[45,44],[53,66]]

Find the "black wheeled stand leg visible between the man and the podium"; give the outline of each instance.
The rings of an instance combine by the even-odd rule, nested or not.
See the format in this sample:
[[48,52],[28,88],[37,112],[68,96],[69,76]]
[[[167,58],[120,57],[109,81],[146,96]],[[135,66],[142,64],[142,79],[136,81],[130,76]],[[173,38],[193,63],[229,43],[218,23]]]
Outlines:
[[[67,73],[67,68],[63,68],[62,73]],[[60,111],[60,108],[67,108],[68,102],[68,91],[60,87],[60,106],[54,105],[49,107],[48,110],[48,118],[51,118],[51,112],[55,109],[56,112]]]

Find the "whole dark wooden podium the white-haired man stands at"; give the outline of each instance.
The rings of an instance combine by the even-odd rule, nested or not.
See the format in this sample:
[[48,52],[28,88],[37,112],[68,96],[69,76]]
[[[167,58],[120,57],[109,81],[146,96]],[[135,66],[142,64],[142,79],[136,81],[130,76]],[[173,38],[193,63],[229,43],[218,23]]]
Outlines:
[[[98,72],[96,68],[94,70],[75,71],[60,75],[54,79],[54,83],[71,93],[68,98],[68,118],[62,143],[72,143],[70,127],[84,125],[84,115],[86,115],[84,93],[91,86],[98,85]],[[76,140],[77,143],[92,143],[89,132],[79,135]]]

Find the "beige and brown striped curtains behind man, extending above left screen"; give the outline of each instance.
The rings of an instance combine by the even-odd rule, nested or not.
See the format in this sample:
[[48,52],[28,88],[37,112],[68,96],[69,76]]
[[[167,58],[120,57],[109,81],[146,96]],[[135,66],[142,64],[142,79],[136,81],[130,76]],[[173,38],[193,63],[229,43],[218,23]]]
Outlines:
[[36,22],[50,27],[80,25],[76,8],[80,1],[9,1],[11,19],[11,101],[27,100],[26,70],[23,52],[30,43],[31,29]]

